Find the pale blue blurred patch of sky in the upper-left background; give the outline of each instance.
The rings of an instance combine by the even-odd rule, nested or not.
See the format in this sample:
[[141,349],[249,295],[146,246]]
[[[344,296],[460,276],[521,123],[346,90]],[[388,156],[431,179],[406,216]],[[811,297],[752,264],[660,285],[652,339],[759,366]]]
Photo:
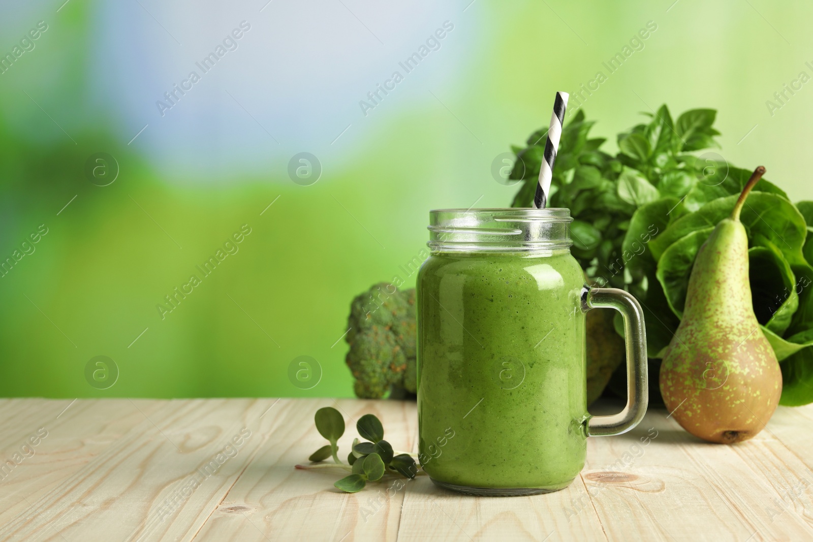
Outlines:
[[[471,38],[447,31],[407,74],[399,63],[428,47],[444,21],[453,25],[459,10],[436,2],[140,1],[98,5],[94,19],[106,46],[93,59],[111,70],[92,70],[91,87],[125,141],[147,126],[133,145],[179,180],[234,182],[239,173],[285,167],[302,151],[342,163],[359,140],[385,129],[385,111],[425,100],[426,80],[441,86],[454,78]],[[200,77],[192,89],[174,92],[180,98],[159,111],[165,93],[192,72]],[[393,72],[403,80],[385,95],[378,85]],[[376,91],[365,115],[359,102]]]

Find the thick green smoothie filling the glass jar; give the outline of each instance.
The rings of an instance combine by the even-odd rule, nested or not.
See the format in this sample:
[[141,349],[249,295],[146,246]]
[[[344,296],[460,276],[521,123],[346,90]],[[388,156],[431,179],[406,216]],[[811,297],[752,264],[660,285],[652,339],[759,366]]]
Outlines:
[[420,463],[465,488],[563,488],[585,464],[584,286],[567,249],[435,253],[418,277]]

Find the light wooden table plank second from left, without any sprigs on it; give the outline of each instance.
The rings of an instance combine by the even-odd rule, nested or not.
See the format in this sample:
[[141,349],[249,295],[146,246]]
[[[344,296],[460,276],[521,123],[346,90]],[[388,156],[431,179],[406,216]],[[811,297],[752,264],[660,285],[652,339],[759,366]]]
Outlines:
[[[260,418],[272,404],[267,400],[124,401],[141,421],[58,486],[29,499],[0,527],[0,539],[189,540],[274,424]],[[72,418],[76,425],[66,423],[65,430],[82,435],[87,418]],[[214,475],[200,474],[242,427],[252,427],[252,435],[237,456]],[[193,479],[198,487],[185,493]]]

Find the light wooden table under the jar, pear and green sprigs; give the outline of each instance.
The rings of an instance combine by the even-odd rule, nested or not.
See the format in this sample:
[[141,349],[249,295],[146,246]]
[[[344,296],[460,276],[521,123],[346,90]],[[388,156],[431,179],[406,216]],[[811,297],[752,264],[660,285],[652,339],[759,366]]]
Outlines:
[[293,468],[324,444],[313,414],[326,405],[348,421],[342,456],[367,412],[416,449],[414,402],[2,400],[0,457],[14,466],[0,473],[0,540],[813,540],[813,405],[780,407],[733,446],[652,410],[589,439],[569,488],[508,498],[425,476],[337,492],[343,471]]

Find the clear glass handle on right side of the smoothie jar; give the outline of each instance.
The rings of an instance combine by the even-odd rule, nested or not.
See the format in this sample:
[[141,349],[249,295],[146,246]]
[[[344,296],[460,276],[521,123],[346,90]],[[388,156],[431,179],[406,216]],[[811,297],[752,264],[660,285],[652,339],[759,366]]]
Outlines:
[[646,375],[646,327],[641,304],[632,294],[618,288],[585,288],[582,310],[615,309],[624,317],[627,346],[627,405],[618,414],[593,416],[587,423],[588,436],[612,436],[637,426],[646,414],[649,384]]

